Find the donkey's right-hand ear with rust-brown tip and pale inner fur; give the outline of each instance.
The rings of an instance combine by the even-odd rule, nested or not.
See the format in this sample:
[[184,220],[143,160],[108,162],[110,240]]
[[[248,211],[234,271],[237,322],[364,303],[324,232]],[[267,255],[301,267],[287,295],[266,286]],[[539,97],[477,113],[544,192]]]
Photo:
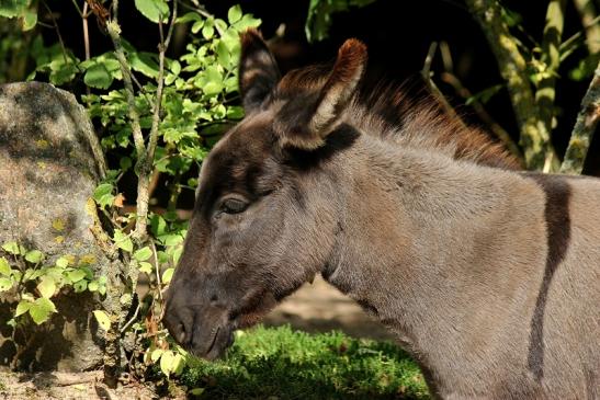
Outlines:
[[362,42],[351,38],[343,43],[316,103],[308,108],[308,117],[302,126],[281,135],[282,145],[312,150],[325,144],[354,96],[366,58],[366,46]]

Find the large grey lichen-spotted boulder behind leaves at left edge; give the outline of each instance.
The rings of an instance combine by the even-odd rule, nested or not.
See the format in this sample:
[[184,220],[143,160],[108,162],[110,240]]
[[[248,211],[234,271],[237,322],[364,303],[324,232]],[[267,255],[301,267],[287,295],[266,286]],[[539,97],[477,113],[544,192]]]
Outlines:
[[[107,271],[90,203],[103,161],[90,140],[98,142],[72,94],[39,82],[0,85],[0,243],[18,240],[49,260],[70,254]],[[0,364],[11,364],[16,347],[4,322],[14,293],[0,295]],[[98,297],[86,292],[53,300],[58,312],[48,322],[15,336],[13,366],[77,372],[101,365],[103,340],[91,313]]]

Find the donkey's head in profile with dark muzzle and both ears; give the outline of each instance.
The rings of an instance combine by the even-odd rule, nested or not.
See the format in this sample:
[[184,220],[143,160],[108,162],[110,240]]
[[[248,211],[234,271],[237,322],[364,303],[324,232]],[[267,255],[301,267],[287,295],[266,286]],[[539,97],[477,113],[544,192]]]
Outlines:
[[217,357],[248,327],[312,281],[336,245],[341,201],[330,170],[358,133],[343,124],[366,62],[350,39],[332,68],[281,78],[260,34],[241,36],[246,117],[204,160],[165,324],[193,353]]

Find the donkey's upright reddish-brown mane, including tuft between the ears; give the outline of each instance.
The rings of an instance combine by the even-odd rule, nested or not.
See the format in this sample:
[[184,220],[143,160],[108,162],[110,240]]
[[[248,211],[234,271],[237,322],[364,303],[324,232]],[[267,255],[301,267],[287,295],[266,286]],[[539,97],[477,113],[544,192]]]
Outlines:
[[[280,82],[275,99],[318,91],[330,71],[328,65],[292,70]],[[405,148],[440,152],[487,167],[520,169],[519,161],[482,129],[466,126],[459,117],[449,115],[432,95],[419,93],[419,100],[415,100],[403,87],[361,88],[342,121]]]

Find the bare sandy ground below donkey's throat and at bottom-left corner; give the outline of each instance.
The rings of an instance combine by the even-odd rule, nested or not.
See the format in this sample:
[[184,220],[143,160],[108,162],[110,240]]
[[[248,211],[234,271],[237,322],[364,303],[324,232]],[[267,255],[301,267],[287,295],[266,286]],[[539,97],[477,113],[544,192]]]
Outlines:
[[[392,339],[389,332],[374,321],[350,298],[321,278],[306,284],[284,300],[265,319],[267,325],[290,323],[308,332],[341,330],[356,338]],[[101,372],[83,374],[22,374],[0,369],[0,398],[7,400],[75,400],[75,399],[152,399],[144,386],[127,386],[107,390],[101,382]],[[184,395],[180,397],[183,399]]]

